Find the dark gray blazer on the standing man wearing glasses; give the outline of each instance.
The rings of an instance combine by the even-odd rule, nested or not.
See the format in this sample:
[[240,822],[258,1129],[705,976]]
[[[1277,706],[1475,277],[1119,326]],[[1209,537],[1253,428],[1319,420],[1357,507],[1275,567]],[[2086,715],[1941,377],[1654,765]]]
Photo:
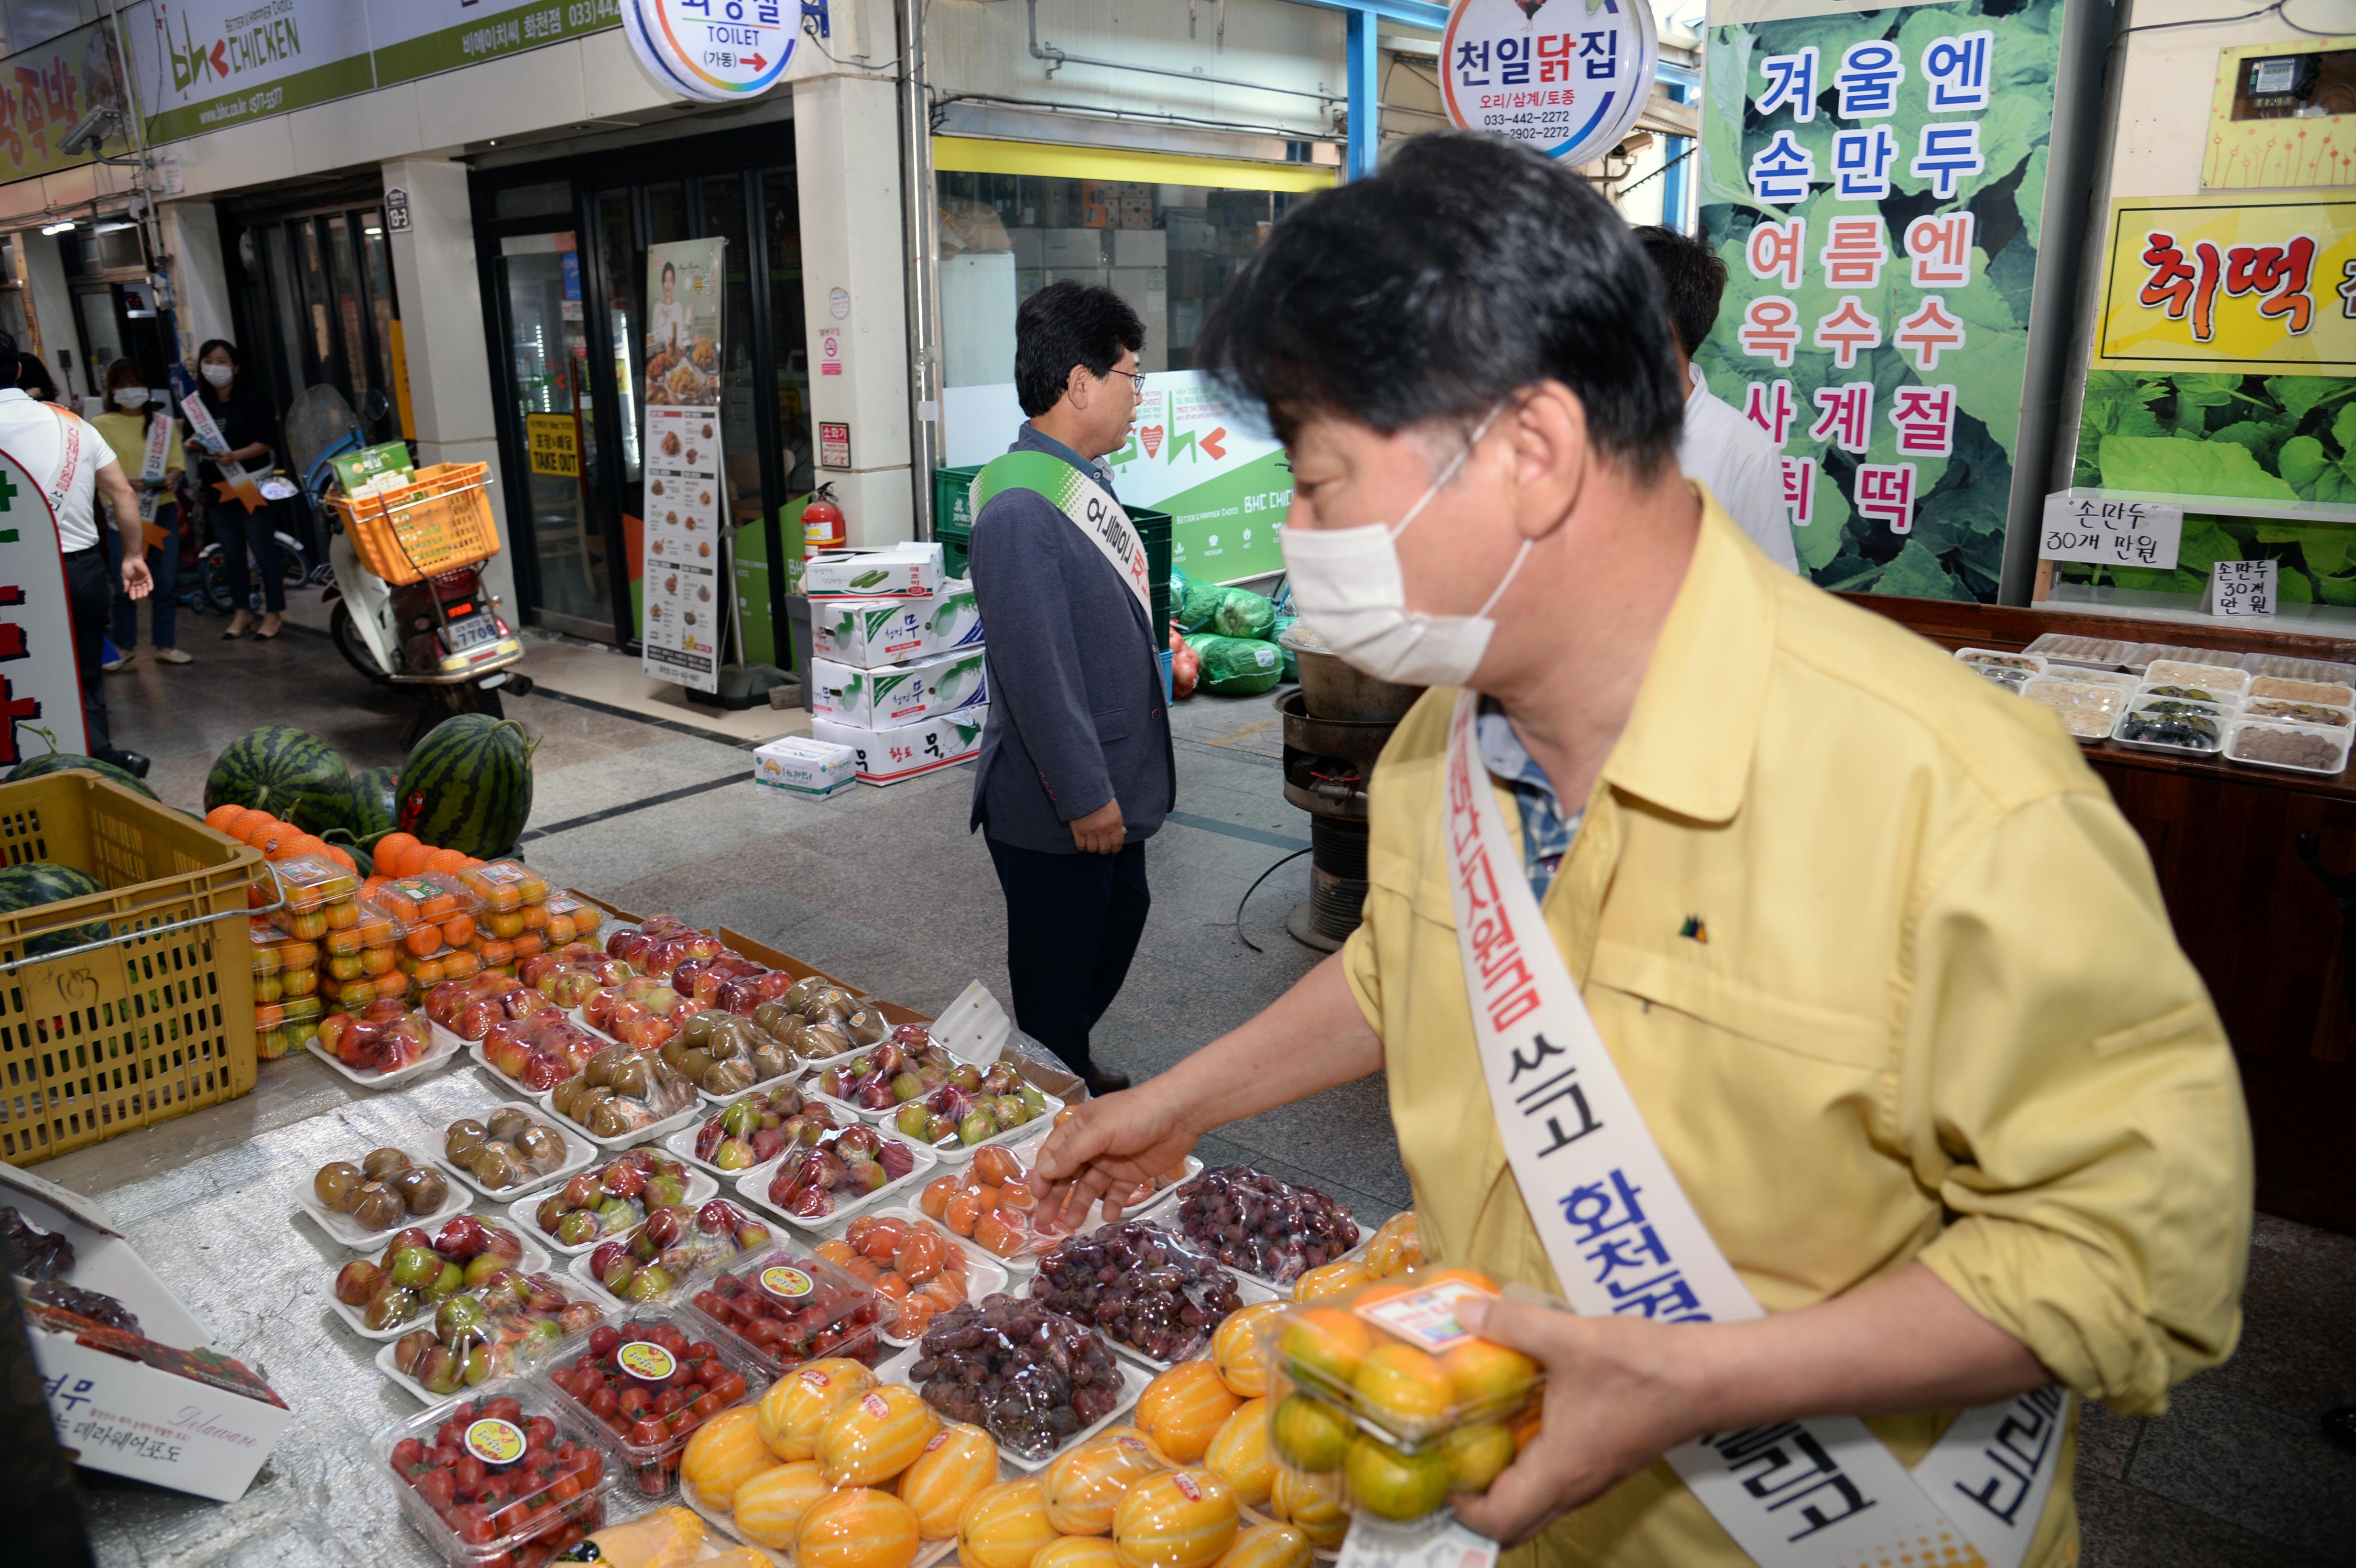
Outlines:
[[[1027,424],[1013,450],[1051,452],[1100,478]],[[1112,563],[1034,490],[982,506],[968,558],[990,659],[968,826],[987,824],[1018,850],[1077,855],[1067,824],[1119,798],[1129,838],[1147,838],[1178,803],[1157,657],[1166,636],[1154,636]]]

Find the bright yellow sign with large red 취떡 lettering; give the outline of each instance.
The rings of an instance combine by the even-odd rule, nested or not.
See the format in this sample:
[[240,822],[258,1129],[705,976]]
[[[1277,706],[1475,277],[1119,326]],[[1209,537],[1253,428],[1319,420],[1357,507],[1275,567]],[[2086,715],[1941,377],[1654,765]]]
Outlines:
[[2113,200],[2094,365],[2356,377],[2356,195]]

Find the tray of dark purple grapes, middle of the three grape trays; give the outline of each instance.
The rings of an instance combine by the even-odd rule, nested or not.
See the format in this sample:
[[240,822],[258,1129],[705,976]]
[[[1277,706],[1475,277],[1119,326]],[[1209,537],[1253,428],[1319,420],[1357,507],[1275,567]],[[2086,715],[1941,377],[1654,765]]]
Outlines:
[[1244,1304],[1235,1276],[1157,1224],[1107,1224],[1039,1260],[1032,1300],[1154,1361],[1185,1361]]

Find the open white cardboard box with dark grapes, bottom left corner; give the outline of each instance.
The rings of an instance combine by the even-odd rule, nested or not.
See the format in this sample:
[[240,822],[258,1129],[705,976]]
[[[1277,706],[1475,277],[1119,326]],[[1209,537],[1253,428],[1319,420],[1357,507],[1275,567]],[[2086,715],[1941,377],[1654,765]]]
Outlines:
[[113,1349],[97,1349],[94,1340],[108,1337],[108,1330],[57,1328],[26,1302],[26,1337],[49,1394],[57,1441],[90,1469],[214,1502],[243,1497],[294,1413],[276,1403],[250,1368],[240,1368],[254,1377],[245,1391],[229,1387],[243,1380],[226,1370],[217,1377],[174,1370],[191,1356],[198,1366],[229,1358],[85,1198],[0,1165],[0,1201],[73,1243],[75,1262],[64,1283],[104,1290],[139,1318],[139,1335],[120,1335]]

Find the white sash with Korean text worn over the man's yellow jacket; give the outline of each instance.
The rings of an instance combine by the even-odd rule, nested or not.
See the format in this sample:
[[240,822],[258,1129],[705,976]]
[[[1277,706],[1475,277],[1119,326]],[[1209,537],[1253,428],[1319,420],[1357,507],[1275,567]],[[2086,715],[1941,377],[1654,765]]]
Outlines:
[[[1472,742],[1449,723],[1456,944],[1505,1156],[1571,1307],[1663,1323],[1765,1316],[1652,1140],[1538,913]],[[1668,1453],[1760,1568],[2019,1568],[2062,1462],[2069,1396],[1965,1410],[1908,1471],[1849,1415],[1720,1431]]]

